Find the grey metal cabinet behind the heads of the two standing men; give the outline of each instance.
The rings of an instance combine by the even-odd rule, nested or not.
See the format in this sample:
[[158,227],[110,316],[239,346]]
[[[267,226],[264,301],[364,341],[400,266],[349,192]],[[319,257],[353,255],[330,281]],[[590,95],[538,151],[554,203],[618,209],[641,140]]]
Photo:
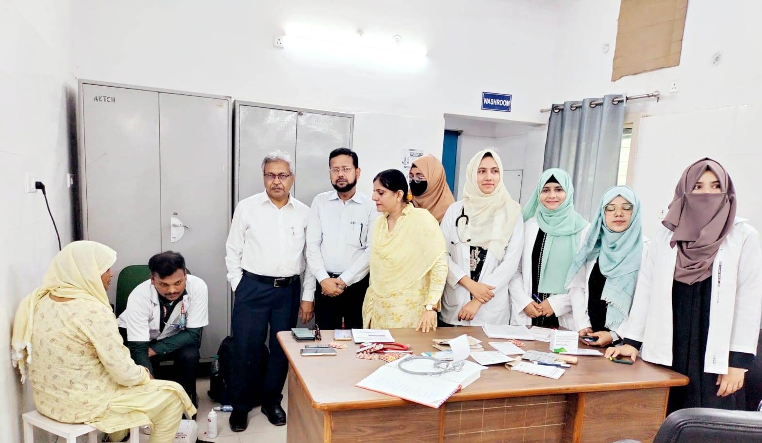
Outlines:
[[261,163],[275,150],[291,155],[295,168],[293,196],[307,206],[331,190],[328,154],[352,147],[353,116],[235,100],[233,201],[264,190]]

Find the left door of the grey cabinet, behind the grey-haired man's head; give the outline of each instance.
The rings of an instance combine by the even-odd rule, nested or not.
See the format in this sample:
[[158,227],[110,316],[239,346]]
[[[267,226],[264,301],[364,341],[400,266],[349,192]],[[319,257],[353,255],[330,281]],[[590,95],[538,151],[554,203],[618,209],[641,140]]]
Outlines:
[[[264,191],[262,159],[280,150],[296,160],[296,112],[240,104],[235,113],[235,202]],[[293,190],[292,190],[293,193]]]

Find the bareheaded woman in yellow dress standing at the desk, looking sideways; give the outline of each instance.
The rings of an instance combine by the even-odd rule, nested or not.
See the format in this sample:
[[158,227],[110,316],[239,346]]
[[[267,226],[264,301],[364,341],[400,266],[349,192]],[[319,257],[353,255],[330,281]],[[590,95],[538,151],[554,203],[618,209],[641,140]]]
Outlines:
[[447,279],[444,237],[437,219],[414,208],[407,195],[400,171],[388,169],[373,179],[373,201],[384,215],[373,222],[364,327],[437,329]]

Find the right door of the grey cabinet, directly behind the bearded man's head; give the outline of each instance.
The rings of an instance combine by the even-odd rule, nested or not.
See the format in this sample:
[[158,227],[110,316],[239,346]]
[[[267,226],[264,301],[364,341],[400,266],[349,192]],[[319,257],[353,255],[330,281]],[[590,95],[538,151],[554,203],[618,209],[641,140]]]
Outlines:
[[305,205],[331,190],[328,154],[351,148],[352,119],[348,116],[300,112],[296,119],[296,181],[293,195]]

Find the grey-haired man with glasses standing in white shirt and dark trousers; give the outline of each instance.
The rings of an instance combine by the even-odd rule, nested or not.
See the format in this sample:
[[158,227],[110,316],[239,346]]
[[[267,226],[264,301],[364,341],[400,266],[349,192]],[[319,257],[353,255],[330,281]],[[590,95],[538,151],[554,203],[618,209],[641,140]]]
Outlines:
[[[309,208],[290,194],[294,181],[290,156],[271,152],[262,161],[262,174],[264,193],[238,203],[226,243],[228,280],[235,293],[229,389],[234,432],[247,428],[248,412],[258,400],[273,425],[286,424],[280,402],[288,361],[276,335],[296,327],[302,294],[299,276],[306,268]],[[312,280],[309,271],[305,279]]]

